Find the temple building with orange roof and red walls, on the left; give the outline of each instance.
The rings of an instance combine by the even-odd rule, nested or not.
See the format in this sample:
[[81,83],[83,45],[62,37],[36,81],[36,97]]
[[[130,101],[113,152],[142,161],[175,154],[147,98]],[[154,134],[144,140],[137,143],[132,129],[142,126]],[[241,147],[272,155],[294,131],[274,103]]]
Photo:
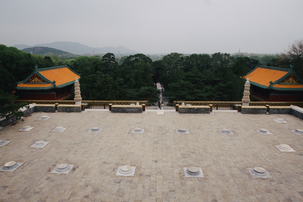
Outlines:
[[16,95],[19,100],[68,100],[76,78],[80,75],[65,65],[35,70],[18,82]]

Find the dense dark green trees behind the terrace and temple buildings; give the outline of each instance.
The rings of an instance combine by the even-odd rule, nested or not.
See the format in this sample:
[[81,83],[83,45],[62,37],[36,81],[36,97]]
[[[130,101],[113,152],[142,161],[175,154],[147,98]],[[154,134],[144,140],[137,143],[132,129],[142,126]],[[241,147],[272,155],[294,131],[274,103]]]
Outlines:
[[[169,101],[239,101],[245,80],[242,78],[258,64],[288,68],[303,76],[303,42],[297,40],[285,54],[232,56],[228,53],[170,53],[156,61],[143,54],[115,58],[79,56],[62,59],[58,55],[31,55],[14,47],[0,45],[1,95],[11,96],[17,81],[25,79],[35,65],[47,68],[64,62],[81,74],[84,100],[148,100],[156,102],[156,83],[165,88]],[[7,97],[6,97],[7,98]],[[4,99],[5,100],[5,99]],[[9,100],[9,99],[7,99]]]

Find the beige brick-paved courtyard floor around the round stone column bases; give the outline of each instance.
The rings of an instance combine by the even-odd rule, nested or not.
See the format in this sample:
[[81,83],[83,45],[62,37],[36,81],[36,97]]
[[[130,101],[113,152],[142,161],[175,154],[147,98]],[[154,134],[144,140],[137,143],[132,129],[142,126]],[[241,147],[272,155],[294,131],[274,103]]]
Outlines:
[[[35,128],[18,131],[25,125]],[[52,132],[58,126],[66,130]],[[132,133],[135,127],[144,132]],[[177,134],[180,128],[188,134]],[[0,139],[12,141],[0,147],[0,166],[24,162],[0,172],[0,201],[303,201],[303,135],[291,131],[298,128],[303,120],[288,114],[33,113],[0,129]],[[39,140],[49,143],[30,147]],[[51,173],[60,163],[74,167]],[[134,176],[116,176],[123,165],[136,167]],[[185,177],[192,166],[204,177]],[[255,178],[254,167],[272,178]]]

